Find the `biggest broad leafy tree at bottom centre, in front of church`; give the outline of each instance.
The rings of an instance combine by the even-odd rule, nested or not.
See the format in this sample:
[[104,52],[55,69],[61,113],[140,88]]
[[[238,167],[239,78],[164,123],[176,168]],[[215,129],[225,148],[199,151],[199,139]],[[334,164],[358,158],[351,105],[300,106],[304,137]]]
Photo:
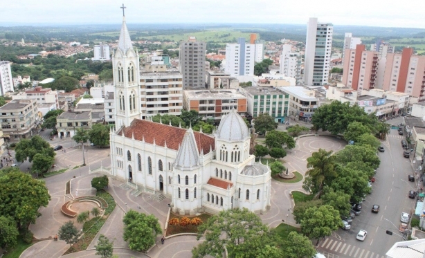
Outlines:
[[221,257],[224,246],[228,257],[245,257],[241,250],[247,250],[248,246],[250,250],[262,249],[269,236],[269,228],[253,212],[246,208],[224,210],[199,225],[197,239],[205,237],[206,241],[192,249],[192,258]]

